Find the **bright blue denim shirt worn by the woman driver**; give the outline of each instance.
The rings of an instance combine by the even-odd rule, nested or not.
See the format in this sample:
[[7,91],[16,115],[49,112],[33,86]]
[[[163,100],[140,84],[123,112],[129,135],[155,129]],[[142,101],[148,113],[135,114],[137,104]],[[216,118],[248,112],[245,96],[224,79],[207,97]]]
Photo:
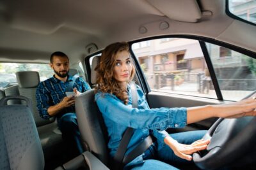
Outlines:
[[[134,128],[134,134],[127,146],[127,153],[136,147],[149,134],[149,129],[157,138],[158,144],[169,134],[164,131],[170,127],[186,126],[186,108],[154,108],[150,109],[143,91],[137,85],[138,108],[132,108],[131,88],[127,87],[129,103],[125,105],[118,97],[109,93],[97,92],[95,101],[99,106],[108,129],[110,155],[113,157],[127,127]],[[126,154],[127,154],[126,153]]]

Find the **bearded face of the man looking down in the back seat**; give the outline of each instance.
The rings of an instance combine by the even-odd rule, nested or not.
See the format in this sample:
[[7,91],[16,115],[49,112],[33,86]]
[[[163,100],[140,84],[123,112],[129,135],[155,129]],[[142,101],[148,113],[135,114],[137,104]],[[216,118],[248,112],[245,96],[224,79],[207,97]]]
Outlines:
[[50,66],[52,67],[54,72],[61,78],[65,78],[68,76],[69,61],[67,57],[54,56]]

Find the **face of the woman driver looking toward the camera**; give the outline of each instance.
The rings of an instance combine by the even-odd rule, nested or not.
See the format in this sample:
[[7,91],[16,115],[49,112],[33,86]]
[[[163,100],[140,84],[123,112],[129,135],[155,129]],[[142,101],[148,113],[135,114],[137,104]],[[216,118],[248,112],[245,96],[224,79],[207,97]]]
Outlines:
[[131,76],[132,64],[129,52],[122,51],[116,53],[114,68],[114,78],[116,81],[127,82]]

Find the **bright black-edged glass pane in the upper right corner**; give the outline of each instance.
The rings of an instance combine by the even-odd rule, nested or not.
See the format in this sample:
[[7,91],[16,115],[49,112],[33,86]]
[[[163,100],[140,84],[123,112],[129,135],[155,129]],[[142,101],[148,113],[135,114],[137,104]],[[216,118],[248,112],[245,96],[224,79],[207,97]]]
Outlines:
[[241,20],[256,24],[255,0],[229,0],[228,11]]

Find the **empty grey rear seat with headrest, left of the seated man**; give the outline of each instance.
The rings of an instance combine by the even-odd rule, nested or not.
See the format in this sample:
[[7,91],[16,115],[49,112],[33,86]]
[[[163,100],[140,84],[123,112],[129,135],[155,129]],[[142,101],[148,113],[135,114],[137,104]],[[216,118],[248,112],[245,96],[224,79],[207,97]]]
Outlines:
[[[55,118],[49,120],[41,118],[36,109],[36,88],[40,82],[37,71],[19,71],[16,73],[17,81],[19,83],[19,94],[25,96],[32,101],[32,113],[35,119],[36,127],[44,150],[45,159],[54,157],[55,154],[63,150],[63,142],[61,139],[61,132]],[[16,88],[16,87],[13,87]],[[14,91],[13,91],[14,92]],[[61,144],[61,145],[60,145]],[[55,154],[54,154],[55,153]]]

